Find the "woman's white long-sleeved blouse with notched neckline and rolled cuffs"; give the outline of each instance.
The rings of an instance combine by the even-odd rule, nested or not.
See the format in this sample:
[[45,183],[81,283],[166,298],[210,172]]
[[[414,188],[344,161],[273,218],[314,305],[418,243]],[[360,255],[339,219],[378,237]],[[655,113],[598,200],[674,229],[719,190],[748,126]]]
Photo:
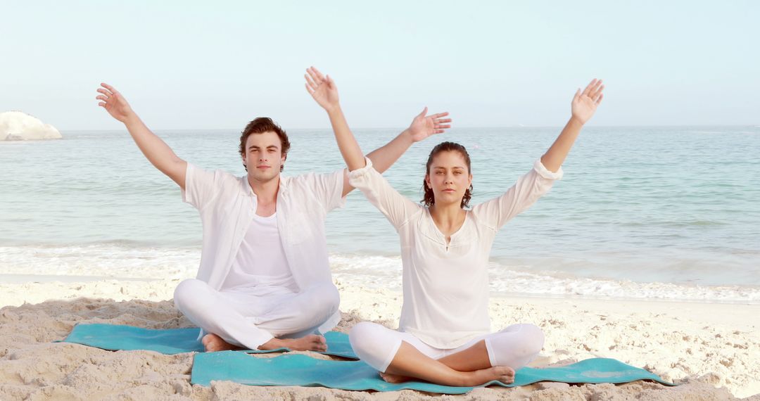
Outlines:
[[349,182],[390,220],[401,239],[404,305],[398,330],[440,349],[491,333],[487,266],[496,232],[546,194],[562,169],[549,172],[538,160],[504,194],[467,210],[447,246],[428,208],[399,194],[369,159],[366,163],[349,173]]

